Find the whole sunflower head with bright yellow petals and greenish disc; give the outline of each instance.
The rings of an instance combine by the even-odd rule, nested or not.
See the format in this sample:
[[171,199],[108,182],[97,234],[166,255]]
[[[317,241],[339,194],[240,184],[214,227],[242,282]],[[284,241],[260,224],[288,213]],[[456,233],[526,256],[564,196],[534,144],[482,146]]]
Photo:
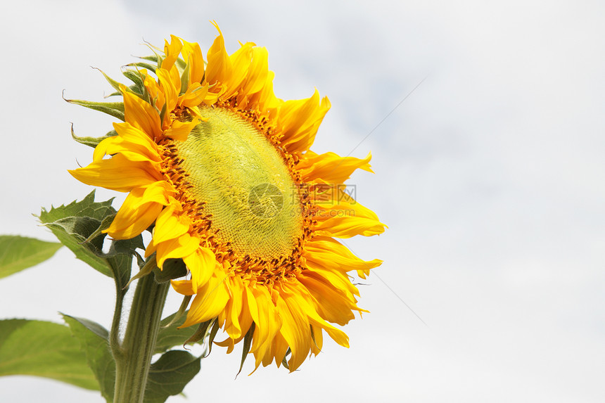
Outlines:
[[284,362],[294,371],[319,353],[324,331],[348,347],[333,324],[364,312],[349,273],[365,278],[381,261],[360,260],[335,238],[384,231],[345,191],[356,169],[371,172],[371,155],[310,151],[328,98],[276,98],[267,50],[248,42],[229,55],[215,27],[207,62],[198,44],[172,36],[148,58],[155,78],[154,66],[137,65],[139,87],[116,86],[124,122],[70,173],[128,193],[109,236],[154,224],[146,257],[160,269],[186,264],[186,279],[172,281],[194,296],[183,326],[212,321],[227,352],[248,336],[255,369]]

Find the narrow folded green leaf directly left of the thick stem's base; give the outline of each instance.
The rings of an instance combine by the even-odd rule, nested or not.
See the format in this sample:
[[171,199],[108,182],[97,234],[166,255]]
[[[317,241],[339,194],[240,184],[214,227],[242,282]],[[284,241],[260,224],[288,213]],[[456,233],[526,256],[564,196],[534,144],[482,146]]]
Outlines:
[[63,314],[63,319],[70,326],[72,334],[77,338],[79,347],[86,356],[86,362],[98,382],[96,389],[99,390],[100,387],[101,395],[108,402],[113,402],[115,361],[109,350],[108,331],[100,324],[88,319],[75,318],[65,314]]

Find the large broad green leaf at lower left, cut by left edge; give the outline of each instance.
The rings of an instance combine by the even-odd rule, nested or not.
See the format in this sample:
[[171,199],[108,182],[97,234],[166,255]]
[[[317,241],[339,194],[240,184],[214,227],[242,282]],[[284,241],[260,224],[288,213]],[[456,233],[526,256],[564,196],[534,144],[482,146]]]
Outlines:
[[67,326],[46,321],[0,321],[0,376],[31,375],[98,390]]

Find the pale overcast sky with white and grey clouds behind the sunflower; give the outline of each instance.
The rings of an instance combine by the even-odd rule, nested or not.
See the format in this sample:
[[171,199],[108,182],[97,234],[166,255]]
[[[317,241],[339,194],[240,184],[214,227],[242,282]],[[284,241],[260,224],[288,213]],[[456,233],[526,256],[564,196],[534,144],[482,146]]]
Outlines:
[[[376,174],[350,183],[389,229],[346,243],[385,262],[360,286],[371,313],[344,328],[349,349],[326,340],[296,373],[234,380],[241,350],[217,347],[189,399],[168,402],[604,402],[604,3],[286,4],[4,6],[0,233],[52,240],[31,214],[91,190],[66,172],[92,155],[70,122],[99,136],[112,120],[65,103],[63,89],[101,100],[112,90],[89,66],[119,78],[148,53],[143,40],[170,34],[205,52],[217,20],[229,51],[267,47],[277,96],[329,96],[314,151],[372,152]],[[113,293],[62,249],[0,281],[0,317],[60,321],[60,311],[108,327]],[[15,376],[0,378],[0,400],[104,401]]]

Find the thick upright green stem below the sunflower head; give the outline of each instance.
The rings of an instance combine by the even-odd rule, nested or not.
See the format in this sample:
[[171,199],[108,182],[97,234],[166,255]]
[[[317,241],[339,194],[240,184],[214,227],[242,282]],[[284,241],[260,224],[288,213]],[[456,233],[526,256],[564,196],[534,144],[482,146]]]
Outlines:
[[124,341],[120,353],[114,355],[114,403],[143,402],[169,285],[170,281],[156,283],[153,274],[136,284]]

